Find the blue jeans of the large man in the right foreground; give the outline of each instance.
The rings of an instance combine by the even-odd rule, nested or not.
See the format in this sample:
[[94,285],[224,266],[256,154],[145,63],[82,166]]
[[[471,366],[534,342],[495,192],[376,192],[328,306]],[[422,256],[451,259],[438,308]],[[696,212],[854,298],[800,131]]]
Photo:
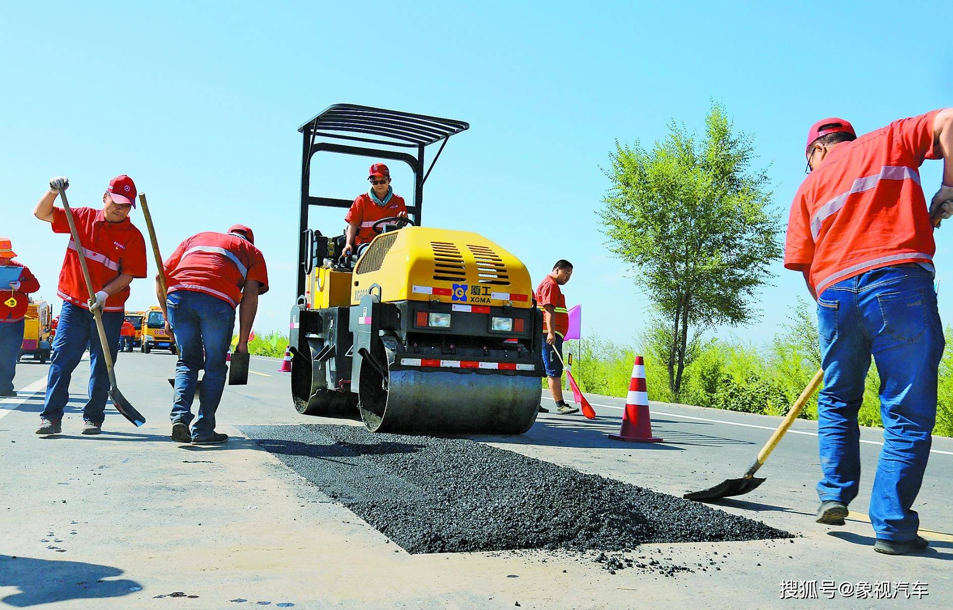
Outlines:
[[827,288],[818,299],[824,387],[818,399],[818,495],[849,503],[861,478],[857,414],[874,356],[881,377],[883,449],[870,498],[877,538],[908,540],[937,415],[943,327],[933,278],[920,267],[875,269]]

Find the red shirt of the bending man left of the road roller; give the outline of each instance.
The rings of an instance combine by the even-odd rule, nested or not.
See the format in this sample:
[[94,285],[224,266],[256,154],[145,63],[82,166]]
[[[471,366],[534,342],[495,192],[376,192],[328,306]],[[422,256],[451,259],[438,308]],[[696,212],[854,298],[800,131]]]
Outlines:
[[162,266],[170,293],[205,293],[235,307],[241,302],[246,280],[261,283],[259,295],[268,292],[265,256],[252,242],[233,234],[194,234],[180,243]]

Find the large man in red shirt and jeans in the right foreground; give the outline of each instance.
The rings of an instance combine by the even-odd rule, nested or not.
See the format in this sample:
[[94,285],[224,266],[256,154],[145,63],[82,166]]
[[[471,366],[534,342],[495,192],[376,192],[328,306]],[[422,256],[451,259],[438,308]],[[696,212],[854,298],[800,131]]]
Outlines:
[[[808,132],[810,174],[791,205],[784,266],[818,301],[824,385],[818,398],[819,523],[842,525],[861,478],[858,411],[873,356],[883,449],[870,499],[874,550],[923,550],[911,510],[937,412],[943,327],[933,288],[934,219],[953,213],[953,109],[857,137],[840,118]],[[928,211],[919,168],[943,158]]]

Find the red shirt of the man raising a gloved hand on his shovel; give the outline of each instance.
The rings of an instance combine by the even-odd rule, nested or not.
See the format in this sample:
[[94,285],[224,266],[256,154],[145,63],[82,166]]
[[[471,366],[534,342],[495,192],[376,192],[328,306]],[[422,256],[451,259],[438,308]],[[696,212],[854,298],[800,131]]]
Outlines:
[[[132,277],[146,276],[146,242],[127,216],[122,222],[107,222],[102,210],[71,208],[79,240],[86,249],[86,265],[90,269],[92,289],[100,291],[120,274]],[[53,233],[70,233],[70,224],[62,208],[53,208]],[[89,309],[90,293],[79,266],[76,244],[70,239],[63,269],[60,271],[59,289],[56,291],[65,301]],[[106,299],[104,312],[126,311],[129,286]]]

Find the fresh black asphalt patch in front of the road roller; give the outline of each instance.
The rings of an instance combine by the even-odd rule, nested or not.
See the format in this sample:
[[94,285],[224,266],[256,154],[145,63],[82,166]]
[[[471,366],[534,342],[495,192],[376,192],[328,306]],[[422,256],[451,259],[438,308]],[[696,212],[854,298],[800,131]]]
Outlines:
[[242,431],[409,553],[623,551],[642,543],[790,538],[704,504],[469,438],[350,425]]

